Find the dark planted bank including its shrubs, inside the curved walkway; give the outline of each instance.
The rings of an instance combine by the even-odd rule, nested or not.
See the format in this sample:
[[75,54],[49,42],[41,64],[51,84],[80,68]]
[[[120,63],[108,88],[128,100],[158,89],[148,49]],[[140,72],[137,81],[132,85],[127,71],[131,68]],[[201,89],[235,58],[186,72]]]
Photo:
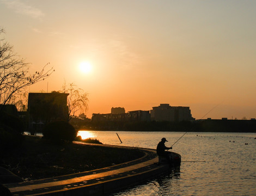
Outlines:
[[[19,118],[0,111],[0,184],[85,172],[143,156],[138,149],[110,148],[97,139],[82,140],[67,121],[50,122],[42,138],[22,134],[23,127]],[[73,140],[99,145],[75,144]]]

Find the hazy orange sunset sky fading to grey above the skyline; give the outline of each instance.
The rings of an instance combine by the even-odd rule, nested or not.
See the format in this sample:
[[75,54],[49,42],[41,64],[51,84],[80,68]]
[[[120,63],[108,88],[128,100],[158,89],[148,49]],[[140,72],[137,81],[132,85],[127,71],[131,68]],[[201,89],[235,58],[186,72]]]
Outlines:
[[[30,91],[89,93],[92,113],[189,106],[192,116],[256,118],[256,1],[0,0],[15,52],[56,72]],[[83,73],[81,62],[92,71]]]

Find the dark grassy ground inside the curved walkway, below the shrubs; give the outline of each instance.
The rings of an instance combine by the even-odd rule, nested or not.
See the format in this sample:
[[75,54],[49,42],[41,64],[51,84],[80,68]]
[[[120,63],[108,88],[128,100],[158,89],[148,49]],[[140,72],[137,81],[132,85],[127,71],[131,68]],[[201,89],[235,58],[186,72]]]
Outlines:
[[25,180],[85,172],[142,157],[139,150],[108,148],[74,143],[52,144],[47,140],[23,136],[22,145],[2,152],[2,162]]

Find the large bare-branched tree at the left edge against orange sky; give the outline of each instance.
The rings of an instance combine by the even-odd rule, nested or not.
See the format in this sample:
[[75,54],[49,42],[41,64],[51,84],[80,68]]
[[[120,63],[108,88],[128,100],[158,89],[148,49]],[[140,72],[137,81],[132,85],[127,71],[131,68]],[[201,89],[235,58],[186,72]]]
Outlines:
[[[3,33],[4,29],[0,27],[0,35]],[[13,52],[13,46],[5,39],[0,39],[0,104],[12,102],[15,95],[21,93],[26,87],[50,76],[54,70],[53,68],[45,70],[48,64],[41,71],[30,74],[29,64],[25,59],[17,56]]]

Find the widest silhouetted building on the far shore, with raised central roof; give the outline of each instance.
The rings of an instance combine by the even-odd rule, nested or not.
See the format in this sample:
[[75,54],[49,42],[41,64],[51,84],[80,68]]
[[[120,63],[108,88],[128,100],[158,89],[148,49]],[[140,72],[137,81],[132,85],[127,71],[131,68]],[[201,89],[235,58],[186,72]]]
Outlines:
[[170,106],[161,103],[160,106],[153,107],[150,111],[151,120],[155,121],[190,121],[193,120],[190,107]]

